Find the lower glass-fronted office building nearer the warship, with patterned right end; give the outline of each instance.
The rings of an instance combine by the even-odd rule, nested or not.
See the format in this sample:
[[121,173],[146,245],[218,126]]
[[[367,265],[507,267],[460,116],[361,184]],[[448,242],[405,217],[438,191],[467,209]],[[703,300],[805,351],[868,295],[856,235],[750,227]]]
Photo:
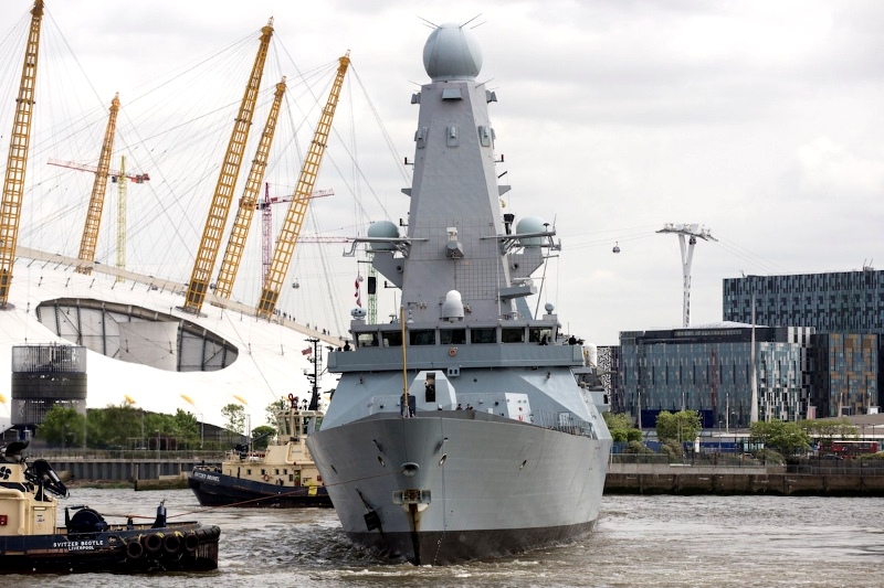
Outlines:
[[704,428],[748,427],[755,365],[758,418],[806,418],[812,332],[734,322],[622,332],[612,410],[640,416],[642,428],[653,428],[661,410],[681,409],[697,410]]

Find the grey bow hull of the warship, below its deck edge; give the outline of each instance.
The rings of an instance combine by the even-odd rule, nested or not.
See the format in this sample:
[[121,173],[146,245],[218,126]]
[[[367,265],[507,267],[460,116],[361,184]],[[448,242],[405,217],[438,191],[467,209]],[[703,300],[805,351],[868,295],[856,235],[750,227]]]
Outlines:
[[354,543],[393,562],[446,565],[591,532],[611,440],[440,410],[373,415],[307,445]]

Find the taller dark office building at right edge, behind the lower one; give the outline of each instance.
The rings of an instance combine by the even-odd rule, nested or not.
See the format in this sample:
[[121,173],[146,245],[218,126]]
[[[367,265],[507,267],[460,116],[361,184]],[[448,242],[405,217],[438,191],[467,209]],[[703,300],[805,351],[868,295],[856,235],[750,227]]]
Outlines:
[[884,271],[745,276],[723,280],[726,321],[810,327],[815,416],[875,411],[884,383]]

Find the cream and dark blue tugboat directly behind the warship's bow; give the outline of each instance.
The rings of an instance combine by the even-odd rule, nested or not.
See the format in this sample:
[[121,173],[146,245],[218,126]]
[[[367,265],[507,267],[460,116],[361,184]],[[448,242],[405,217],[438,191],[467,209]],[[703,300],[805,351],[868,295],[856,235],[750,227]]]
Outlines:
[[318,430],[323,419],[318,386],[322,348],[318,339],[309,341],[314,350],[313,373],[307,374],[309,399],[288,395],[288,406],[276,413],[276,438],[266,450],[238,446],[228,452],[220,469],[193,468],[188,485],[203,506],[332,506],[306,445],[307,436]]

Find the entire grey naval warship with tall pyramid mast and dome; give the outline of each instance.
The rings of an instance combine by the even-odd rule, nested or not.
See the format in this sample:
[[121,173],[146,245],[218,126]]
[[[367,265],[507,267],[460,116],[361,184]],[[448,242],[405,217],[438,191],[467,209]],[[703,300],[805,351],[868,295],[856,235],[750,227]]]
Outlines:
[[552,304],[527,303],[560,244],[543,220],[504,214],[474,34],[435,28],[423,64],[407,228],[354,239],[401,289],[400,316],[354,309],[355,348],[329,354],[340,381],[307,446],[357,546],[446,565],[589,533],[611,437],[573,373],[582,346]]

